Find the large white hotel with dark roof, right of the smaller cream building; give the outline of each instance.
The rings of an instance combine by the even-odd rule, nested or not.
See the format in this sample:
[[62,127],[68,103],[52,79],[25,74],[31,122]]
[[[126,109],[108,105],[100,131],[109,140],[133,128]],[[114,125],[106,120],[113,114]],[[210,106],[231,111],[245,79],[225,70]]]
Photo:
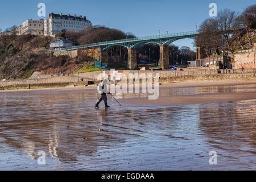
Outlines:
[[92,26],[92,23],[86,19],[86,16],[70,16],[70,14],[63,15],[61,14],[49,14],[49,17],[45,19],[45,36],[55,36],[57,32],[65,30],[74,30],[81,31],[89,26]]

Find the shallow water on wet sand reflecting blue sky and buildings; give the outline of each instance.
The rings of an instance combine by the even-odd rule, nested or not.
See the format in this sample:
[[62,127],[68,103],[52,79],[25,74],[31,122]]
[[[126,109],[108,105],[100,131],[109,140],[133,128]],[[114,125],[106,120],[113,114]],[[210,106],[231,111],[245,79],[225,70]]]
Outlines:
[[[247,90],[255,85],[161,93]],[[0,169],[256,169],[256,100],[168,107],[110,101],[110,109],[94,109],[95,100],[97,94],[82,91],[1,93]],[[41,150],[46,165],[37,163]],[[216,166],[210,151],[218,154]]]

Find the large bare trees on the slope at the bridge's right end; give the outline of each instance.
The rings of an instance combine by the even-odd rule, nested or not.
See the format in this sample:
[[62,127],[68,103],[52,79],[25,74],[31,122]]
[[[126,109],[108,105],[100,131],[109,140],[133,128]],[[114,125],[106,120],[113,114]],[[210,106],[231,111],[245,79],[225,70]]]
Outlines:
[[[220,38],[214,35],[215,30]],[[204,49],[207,56],[213,54],[214,46],[217,54],[222,47],[226,54],[233,53],[236,49],[250,48],[253,44],[251,35],[256,32],[256,5],[247,7],[241,14],[229,9],[221,10],[217,17],[206,19],[199,32],[195,38],[195,46]],[[246,38],[243,36],[245,34]],[[213,37],[217,39],[212,39]]]

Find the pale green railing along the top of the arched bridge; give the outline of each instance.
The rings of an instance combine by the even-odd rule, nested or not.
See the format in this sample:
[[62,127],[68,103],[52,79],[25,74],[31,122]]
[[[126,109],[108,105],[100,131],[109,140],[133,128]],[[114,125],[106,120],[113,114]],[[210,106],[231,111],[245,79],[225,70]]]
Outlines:
[[[79,49],[79,48],[107,46],[107,45],[111,45],[111,44],[137,42],[137,41],[150,40],[150,39],[175,38],[177,36],[189,36],[189,35],[195,35],[195,34],[198,34],[198,31],[188,31],[188,32],[179,32],[179,33],[174,33],[174,34],[145,36],[145,37],[141,37],[141,38],[111,40],[111,41],[107,41],[107,42],[99,42],[99,43],[85,44],[85,45],[81,45],[81,46],[72,46],[72,47],[67,47],[67,48],[59,48],[57,51],[71,51],[71,50]],[[47,52],[54,52],[54,51],[55,50],[50,50],[50,51],[46,51],[46,53]]]

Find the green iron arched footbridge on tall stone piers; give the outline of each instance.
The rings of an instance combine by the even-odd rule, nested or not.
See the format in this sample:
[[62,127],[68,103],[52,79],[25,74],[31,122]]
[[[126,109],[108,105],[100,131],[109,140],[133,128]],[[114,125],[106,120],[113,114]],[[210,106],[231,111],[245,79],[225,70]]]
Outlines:
[[[107,42],[85,44],[82,46],[59,48],[59,49],[46,51],[46,53],[59,52],[59,55],[61,55],[61,52],[63,51],[69,52],[77,49],[89,49],[89,48],[95,48],[95,47],[99,48],[101,52],[105,52],[107,51],[107,49],[110,49],[113,46],[122,46],[128,49],[128,68],[135,69],[137,68],[136,48],[138,48],[142,44],[156,43],[156,44],[159,44],[160,46],[161,68],[167,69],[169,68],[168,45],[179,39],[186,39],[186,38],[193,39],[194,36],[197,34],[198,34],[198,31],[189,31],[189,32],[180,32],[176,34],[155,35],[155,36],[146,36],[142,38],[113,40],[113,41],[107,41]],[[101,56],[101,57],[106,57],[106,53],[105,53],[105,56]],[[106,59],[104,61],[107,62]]]

